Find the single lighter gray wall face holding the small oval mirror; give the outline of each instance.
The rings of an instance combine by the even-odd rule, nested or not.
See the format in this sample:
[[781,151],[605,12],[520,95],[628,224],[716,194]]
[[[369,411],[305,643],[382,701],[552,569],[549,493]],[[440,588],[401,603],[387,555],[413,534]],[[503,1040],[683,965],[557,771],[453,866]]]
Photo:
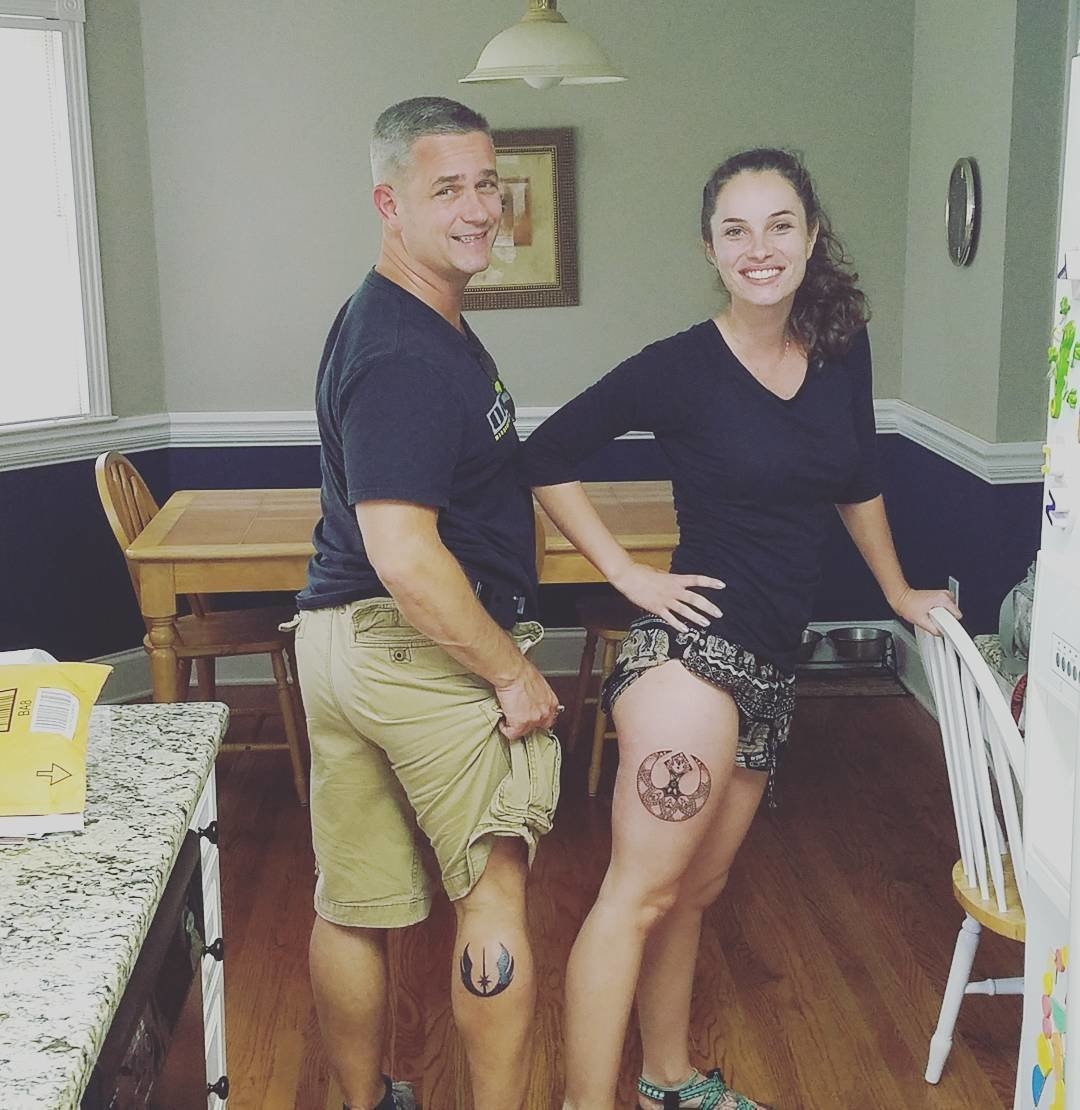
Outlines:
[[[905,401],[986,440],[997,431],[1016,0],[916,0],[904,305]],[[979,165],[975,261],[945,249],[953,162]]]

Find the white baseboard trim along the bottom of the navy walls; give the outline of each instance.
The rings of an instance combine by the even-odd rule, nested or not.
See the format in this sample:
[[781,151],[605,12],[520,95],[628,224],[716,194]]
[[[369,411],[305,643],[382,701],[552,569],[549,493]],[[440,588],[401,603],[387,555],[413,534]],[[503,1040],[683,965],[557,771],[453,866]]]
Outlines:
[[[815,622],[810,627],[826,633],[830,628],[850,625],[887,628],[892,633],[900,682],[919,704],[936,717],[933,698],[930,696],[930,687],[922,669],[915,636],[899,620],[829,620]],[[576,675],[584,646],[584,629],[548,628],[544,639],[533,649],[531,658],[545,675],[559,677]],[[104,663],[113,668],[100,698],[103,704],[115,705],[150,696],[150,666],[147,653],[142,648],[115,652],[112,655],[99,656],[92,662]],[[218,660],[219,686],[270,686],[273,680],[273,672],[266,656],[238,655]]]

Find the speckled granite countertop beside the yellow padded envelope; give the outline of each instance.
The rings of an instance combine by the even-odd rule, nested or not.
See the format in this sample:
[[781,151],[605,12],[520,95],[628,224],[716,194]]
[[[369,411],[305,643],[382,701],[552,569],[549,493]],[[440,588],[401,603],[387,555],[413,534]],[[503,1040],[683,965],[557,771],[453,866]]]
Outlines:
[[99,706],[85,829],[0,846],[0,1102],[69,1110],[221,747],[213,703]]

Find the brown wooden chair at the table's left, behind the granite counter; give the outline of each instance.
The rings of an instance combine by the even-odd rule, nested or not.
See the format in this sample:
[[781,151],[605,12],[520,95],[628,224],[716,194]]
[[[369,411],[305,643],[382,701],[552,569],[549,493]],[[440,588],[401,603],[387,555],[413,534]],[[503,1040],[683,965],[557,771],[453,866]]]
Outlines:
[[[154,518],[158,504],[134,464],[115,451],[98,456],[94,463],[98,495],[112,534],[124,554],[128,574],[142,612],[139,589],[139,566],[127,552],[135,537]],[[293,784],[302,806],[307,805],[307,776],[304,769],[304,715],[295,683],[295,666],[290,664],[293,634],[277,626],[293,615],[292,606],[263,606],[255,609],[215,609],[209,597],[186,596],[190,613],[176,617],[176,659],[180,667],[180,689],[186,695],[194,663],[199,693],[211,700],[216,693],[214,662],[231,655],[269,655],[277,688],[277,705],[285,729],[285,743],[223,744],[222,750],[281,751],[287,749],[292,761]],[[149,623],[147,625],[149,633]],[[149,635],[143,647],[150,652]],[[287,663],[286,663],[287,660]]]

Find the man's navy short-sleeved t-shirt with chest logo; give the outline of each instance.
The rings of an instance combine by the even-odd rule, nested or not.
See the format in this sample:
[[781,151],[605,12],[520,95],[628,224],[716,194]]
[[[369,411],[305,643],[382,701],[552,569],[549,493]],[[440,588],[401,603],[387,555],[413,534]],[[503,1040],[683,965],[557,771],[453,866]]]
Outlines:
[[387,596],[353,506],[407,501],[438,509],[438,534],[472,583],[535,610],[533,501],[513,401],[467,325],[463,334],[373,270],[326,337],[315,408],[322,519],[302,609]]

